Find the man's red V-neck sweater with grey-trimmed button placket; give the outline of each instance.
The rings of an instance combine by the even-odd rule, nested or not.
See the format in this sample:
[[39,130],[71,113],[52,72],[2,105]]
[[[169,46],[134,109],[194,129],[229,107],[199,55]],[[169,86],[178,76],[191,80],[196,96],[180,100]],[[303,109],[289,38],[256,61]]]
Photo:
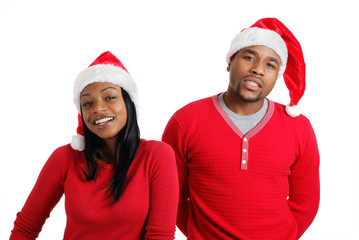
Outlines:
[[177,111],[163,141],[177,158],[177,226],[188,239],[298,239],[313,221],[319,153],[304,116],[269,101],[243,135],[214,96]]

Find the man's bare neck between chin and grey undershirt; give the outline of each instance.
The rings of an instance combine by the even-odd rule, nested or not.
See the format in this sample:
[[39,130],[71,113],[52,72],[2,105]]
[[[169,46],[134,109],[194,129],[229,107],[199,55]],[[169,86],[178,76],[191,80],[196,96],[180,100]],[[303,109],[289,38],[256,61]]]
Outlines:
[[235,93],[227,91],[223,96],[224,103],[234,113],[238,115],[251,115],[258,112],[264,104],[264,99],[256,102],[246,102],[240,99]]

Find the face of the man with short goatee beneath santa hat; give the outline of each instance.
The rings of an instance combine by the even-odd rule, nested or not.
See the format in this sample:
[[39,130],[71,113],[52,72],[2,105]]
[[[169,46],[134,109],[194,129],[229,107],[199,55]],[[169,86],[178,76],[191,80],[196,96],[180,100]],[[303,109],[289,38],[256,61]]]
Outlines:
[[276,83],[280,65],[280,57],[268,47],[243,48],[228,65],[228,90],[244,102],[264,100]]

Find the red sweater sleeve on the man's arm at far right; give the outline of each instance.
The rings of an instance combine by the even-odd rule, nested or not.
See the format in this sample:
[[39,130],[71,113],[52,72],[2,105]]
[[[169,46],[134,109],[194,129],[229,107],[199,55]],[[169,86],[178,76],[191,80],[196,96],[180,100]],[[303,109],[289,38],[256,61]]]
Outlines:
[[294,131],[297,133],[298,154],[289,176],[288,205],[297,221],[300,238],[314,220],[319,206],[319,151],[310,122],[300,116]]

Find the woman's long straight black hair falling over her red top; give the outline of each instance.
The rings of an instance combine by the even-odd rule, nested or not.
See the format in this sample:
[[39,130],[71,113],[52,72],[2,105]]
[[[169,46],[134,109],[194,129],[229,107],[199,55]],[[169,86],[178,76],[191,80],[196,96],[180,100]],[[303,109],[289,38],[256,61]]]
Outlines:
[[[136,108],[132,102],[129,94],[122,90],[122,97],[127,110],[127,122],[123,129],[119,132],[114,156],[118,155],[119,158],[115,159],[116,171],[112,176],[111,181],[107,185],[107,191],[112,195],[112,204],[115,204],[121,197],[127,179],[128,170],[135,158],[138,148],[140,146],[140,130],[137,123]],[[86,126],[83,118],[82,124],[85,134],[85,156],[87,163],[87,171],[84,174],[88,181],[95,179],[98,168],[97,158],[99,156],[100,145],[102,139],[92,133]]]

